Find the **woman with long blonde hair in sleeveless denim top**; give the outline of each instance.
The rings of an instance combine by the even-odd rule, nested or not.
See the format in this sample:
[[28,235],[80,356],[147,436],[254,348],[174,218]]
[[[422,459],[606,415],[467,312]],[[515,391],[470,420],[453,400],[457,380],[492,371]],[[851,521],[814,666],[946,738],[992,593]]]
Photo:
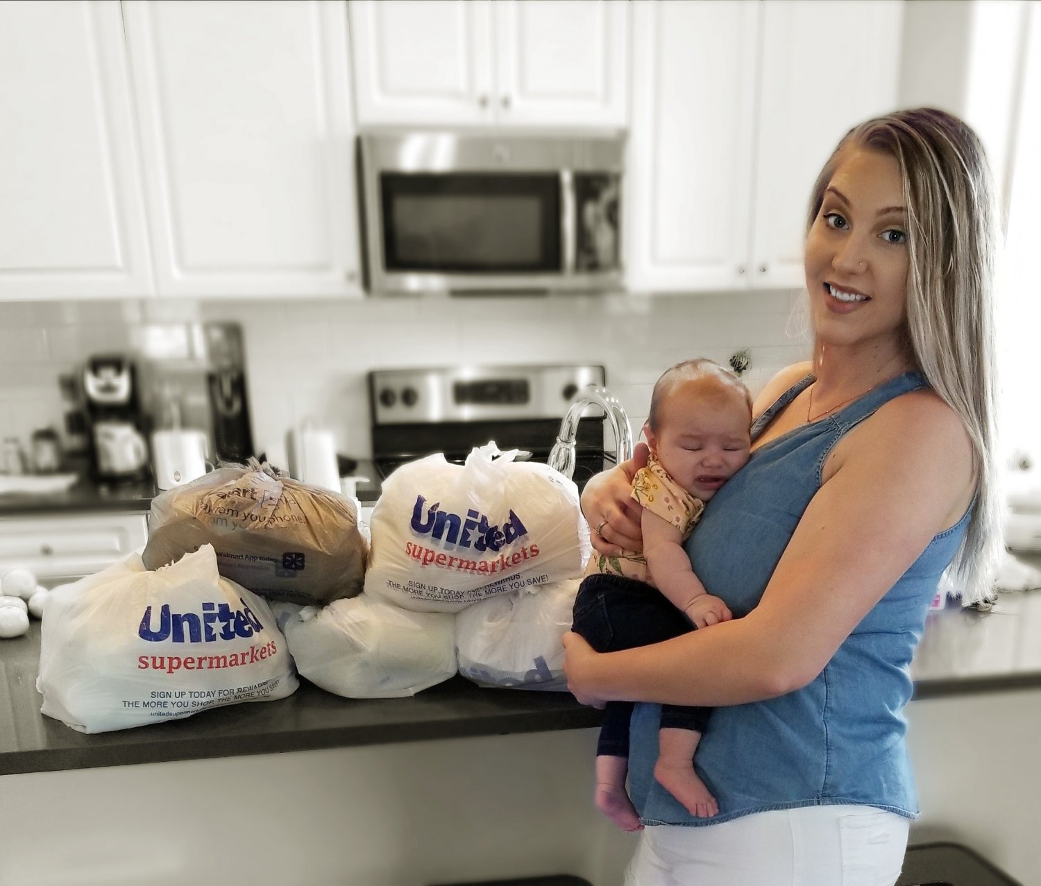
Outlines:
[[[658,708],[637,706],[630,789],[655,827],[630,884],[895,882],[917,814],[908,665],[941,573],[981,600],[997,550],[992,193],[944,112],[842,140],[809,213],[813,361],[759,397],[752,458],[687,545],[734,619],[616,653],[565,637],[584,702],[718,708],[695,760],[719,804],[706,819],[655,783]],[[639,543],[642,458],[583,495],[602,553]]]

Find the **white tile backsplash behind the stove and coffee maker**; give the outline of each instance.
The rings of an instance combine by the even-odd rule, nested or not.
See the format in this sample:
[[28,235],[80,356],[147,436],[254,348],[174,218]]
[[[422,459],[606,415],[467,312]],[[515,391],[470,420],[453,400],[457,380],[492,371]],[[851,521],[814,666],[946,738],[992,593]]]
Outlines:
[[791,332],[798,304],[789,292],[0,304],[0,436],[60,428],[57,376],[92,353],[136,344],[177,360],[191,354],[183,326],[201,321],[242,324],[254,439],[276,462],[286,430],[306,419],[330,427],[344,454],[367,457],[366,374],[398,366],[600,363],[638,436],[654,382],[672,363],[726,364],[747,348],[755,394],[805,359],[808,345]]

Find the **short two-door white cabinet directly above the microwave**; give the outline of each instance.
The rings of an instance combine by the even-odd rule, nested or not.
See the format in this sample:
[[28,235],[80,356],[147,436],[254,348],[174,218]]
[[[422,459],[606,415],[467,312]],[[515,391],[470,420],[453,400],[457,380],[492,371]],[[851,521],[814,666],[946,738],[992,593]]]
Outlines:
[[624,127],[625,0],[352,0],[358,123]]

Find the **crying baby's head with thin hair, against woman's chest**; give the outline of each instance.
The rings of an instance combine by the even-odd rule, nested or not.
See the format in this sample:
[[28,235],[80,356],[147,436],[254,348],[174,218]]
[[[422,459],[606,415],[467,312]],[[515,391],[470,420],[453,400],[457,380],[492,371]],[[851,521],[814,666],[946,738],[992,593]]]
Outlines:
[[712,360],[685,360],[654,386],[643,426],[651,451],[684,489],[708,501],[748,460],[752,396]]

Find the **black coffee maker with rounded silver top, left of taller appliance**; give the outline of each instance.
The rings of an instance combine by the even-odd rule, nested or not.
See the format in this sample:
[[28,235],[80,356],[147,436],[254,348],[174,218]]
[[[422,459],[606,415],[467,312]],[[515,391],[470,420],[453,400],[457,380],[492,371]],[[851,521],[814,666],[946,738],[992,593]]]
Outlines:
[[147,479],[148,421],[141,409],[132,361],[121,354],[90,357],[83,368],[83,400],[94,479],[104,483]]

